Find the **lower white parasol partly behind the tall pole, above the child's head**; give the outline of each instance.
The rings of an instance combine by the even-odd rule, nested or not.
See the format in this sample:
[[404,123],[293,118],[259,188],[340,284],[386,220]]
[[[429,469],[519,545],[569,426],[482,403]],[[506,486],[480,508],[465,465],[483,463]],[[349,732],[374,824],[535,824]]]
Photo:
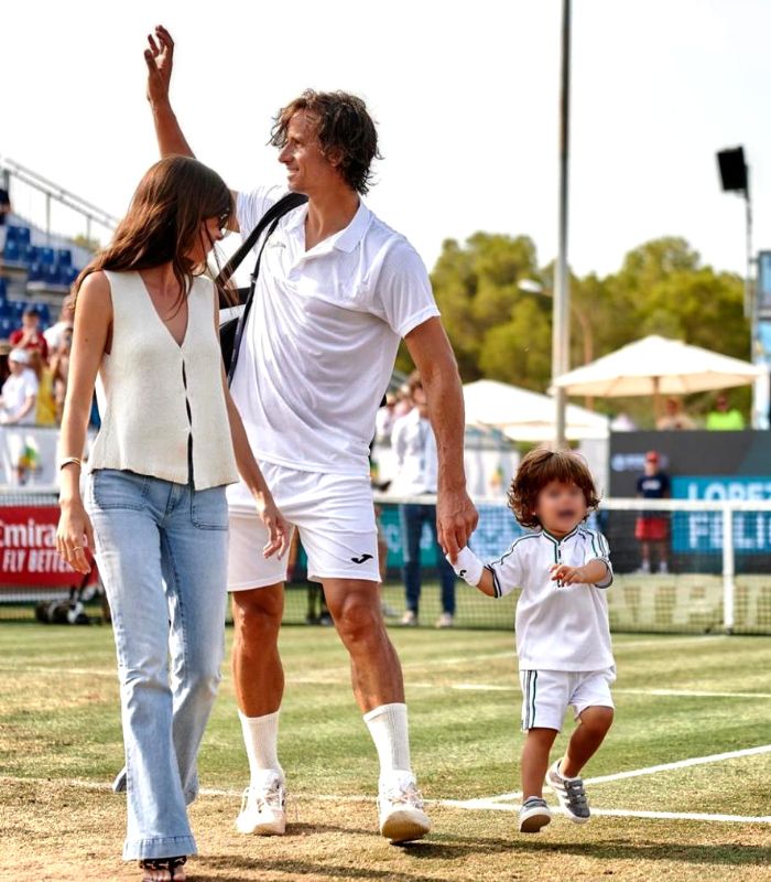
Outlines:
[[[467,424],[495,426],[515,441],[546,441],[554,435],[554,399],[508,383],[479,379],[464,387]],[[567,437],[607,438],[608,418],[568,405]]]

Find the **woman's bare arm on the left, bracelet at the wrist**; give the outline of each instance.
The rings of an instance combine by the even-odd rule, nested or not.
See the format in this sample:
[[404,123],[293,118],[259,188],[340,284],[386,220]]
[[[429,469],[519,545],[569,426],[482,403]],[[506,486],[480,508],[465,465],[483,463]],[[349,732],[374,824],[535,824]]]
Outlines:
[[[67,394],[59,435],[59,462],[70,456],[78,460],[83,456],[94,384],[111,324],[110,283],[104,272],[93,272],[83,282],[77,295]],[[89,572],[83,542],[85,537],[89,547],[94,548],[94,533],[80,498],[80,469],[76,463],[69,463],[62,469],[59,507],[62,516],[56,530],[56,548],[73,569],[83,573]]]

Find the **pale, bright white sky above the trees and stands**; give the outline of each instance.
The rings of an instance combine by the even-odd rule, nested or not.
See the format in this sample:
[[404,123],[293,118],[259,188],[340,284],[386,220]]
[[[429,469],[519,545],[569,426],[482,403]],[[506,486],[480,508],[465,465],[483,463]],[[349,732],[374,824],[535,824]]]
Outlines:
[[[271,116],[306,86],[365,97],[384,161],[368,203],[431,267],[478,229],[556,251],[558,0],[9,3],[0,154],[120,214],[155,147],[144,34],[177,40],[173,97],[235,187],[283,176]],[[611,272],[661,235],[741,272],[741,200],[715,152],[742,143],[756,246],[771,247],[771,3],[574,0],[568,257]],[[26,206],[18,206],[24,211]],[[32,207],[32,206],[30,206]]]

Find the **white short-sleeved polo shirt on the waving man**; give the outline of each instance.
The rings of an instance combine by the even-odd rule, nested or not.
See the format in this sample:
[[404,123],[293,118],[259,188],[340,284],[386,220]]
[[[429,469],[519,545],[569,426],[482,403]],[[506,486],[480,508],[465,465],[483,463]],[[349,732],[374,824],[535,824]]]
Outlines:
[[[240,193],[246,236],[283,194]],[[268,241],[232,381],[254,455],[303,471],[368,474],[374,418],[401,337],[438,310],[417,252],[360,203],[305,250],[307,206]],[[235,485],[230,504],[251,505]]]

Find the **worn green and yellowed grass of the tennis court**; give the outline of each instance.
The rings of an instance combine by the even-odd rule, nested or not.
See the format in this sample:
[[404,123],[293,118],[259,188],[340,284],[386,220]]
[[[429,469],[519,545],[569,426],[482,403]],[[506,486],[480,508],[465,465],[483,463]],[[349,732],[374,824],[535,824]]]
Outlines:
[[[425,796],[471,799],[519,789],[513,635],[393,628],[391,636],[404,666],[413,764]],[[616,723],[587,777],[771,743],[768,638],[616,635],[615,647]],[[608,869],[617,879],[726,879],[736,870],[747,879],[771,876],[768,825],[597,817],[576,828],[557,818],[539,837],[523,839],[513,832],[510,811],[435,805],[436,833],[426,843],[389,849],[374,835],[374,751],[336,634],[285,627],[281,650],[287,686],[280,750],[296,797],[295,835],[270,843],[240,839],[230,830],[237,798],[205,797],[194,822],[208,857],[196,864],[195,879],[552,879],[564,875],[565,853],[585,879]],[[497,689],[485,689],[490,686]],[[651,693],[662,689],[728,696]],[[571,729],[568,720],[555,752]],[[83,786],[109,782],[121,763],[110,628],[2,624],[0,837],[8,848],[0,878],[11,878],[3,874],[10,860],[19,879],[39,878],[35,860],[58,862],[56,878],[91,878],[79,868],[83,842],[74,839],[89,824],[99,840],[89,848],[101,870],[107,864],[109,878],[133,878],[118,859],[120,797]],[[236,792],[246,783],[227,671],[200,773],[209,788]],[[589,794],[604,809],[765,816],[770,776],[771,755],[764,754],[609,782]],[[245,863],[249,856],[257,861],[253,872]],[[20,867],[26,868],[21,875]]]

